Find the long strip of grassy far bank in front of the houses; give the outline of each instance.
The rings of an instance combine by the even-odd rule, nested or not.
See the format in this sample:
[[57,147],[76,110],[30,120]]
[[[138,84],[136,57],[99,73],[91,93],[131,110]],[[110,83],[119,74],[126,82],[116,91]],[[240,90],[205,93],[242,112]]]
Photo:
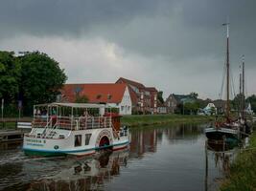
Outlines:
[[137,115],[124,116],[121,119],[122,125],[129,127],[145,126],[153,124],[166,124],[172,122],[203,122],[213,120],[214,117],[191,116],[191,115]]

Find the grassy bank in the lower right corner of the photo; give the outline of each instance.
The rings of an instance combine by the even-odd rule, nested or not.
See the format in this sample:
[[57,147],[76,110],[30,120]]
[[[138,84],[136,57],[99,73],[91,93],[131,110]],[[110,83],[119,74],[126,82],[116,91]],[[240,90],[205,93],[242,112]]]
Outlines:
[[256,133],[251,136],[249,147],[231,165],[230,176],[221,185],[221,191],[235,190],[256,190]]

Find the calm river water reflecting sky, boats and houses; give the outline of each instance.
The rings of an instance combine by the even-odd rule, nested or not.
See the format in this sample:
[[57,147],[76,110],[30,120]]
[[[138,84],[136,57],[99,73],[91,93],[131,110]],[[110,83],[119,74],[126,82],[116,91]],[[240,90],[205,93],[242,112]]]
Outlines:
[[216,190],[234,153],[205,150],[204,127],[134,128],[129,150],[86,158],[31,158],[20,143],[1,144],[0,190]]

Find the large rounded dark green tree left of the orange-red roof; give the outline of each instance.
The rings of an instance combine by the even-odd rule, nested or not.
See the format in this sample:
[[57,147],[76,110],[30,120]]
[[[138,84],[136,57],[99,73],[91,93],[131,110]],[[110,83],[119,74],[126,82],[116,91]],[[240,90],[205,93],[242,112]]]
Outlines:
[[26,53],[18,60],[21,66],[20,93],[28,112],[36,103],[55,101],[67,79],[58,62],[38,52]]

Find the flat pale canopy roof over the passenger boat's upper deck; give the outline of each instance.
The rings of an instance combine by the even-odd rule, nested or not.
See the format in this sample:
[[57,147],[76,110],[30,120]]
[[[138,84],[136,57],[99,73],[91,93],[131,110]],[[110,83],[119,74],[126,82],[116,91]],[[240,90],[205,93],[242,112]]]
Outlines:
[[37,104],[35,107],[70,107],[70,108],[106,108],[105,104],[96,103],[45,103]]

